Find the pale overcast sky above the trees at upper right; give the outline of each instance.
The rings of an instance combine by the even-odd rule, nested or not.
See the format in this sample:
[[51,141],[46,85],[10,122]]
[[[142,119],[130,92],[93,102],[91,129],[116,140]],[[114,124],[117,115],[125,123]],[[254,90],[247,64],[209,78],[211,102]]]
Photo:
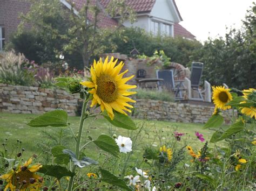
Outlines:
[[[175,0],[183,21],[179,24],[203,42],[224,37],[226,26],[240,29],[253,0]],[[255,1],[254,1],[255,2]]]

